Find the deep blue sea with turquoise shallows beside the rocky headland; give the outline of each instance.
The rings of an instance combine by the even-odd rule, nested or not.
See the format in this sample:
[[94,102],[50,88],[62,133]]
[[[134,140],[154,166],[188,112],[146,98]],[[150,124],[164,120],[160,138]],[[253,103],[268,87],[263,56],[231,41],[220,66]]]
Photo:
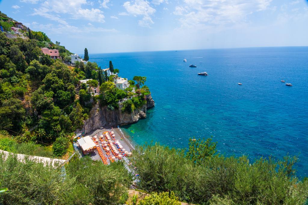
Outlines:
[[308,47],[90,55],[102,68],[110,60],[121,77],[146,76],[155,101],[146,119],[121,127],[134,144],[187,148],[213,136],[226,156],[298,155],[297,175],[308,176]]

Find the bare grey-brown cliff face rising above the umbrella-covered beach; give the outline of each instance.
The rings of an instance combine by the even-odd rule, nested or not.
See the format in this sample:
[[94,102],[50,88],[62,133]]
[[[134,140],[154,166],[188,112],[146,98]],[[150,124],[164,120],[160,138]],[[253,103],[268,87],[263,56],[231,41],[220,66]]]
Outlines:
[[117,110],[108,110],[107,106],[100,107],[95,104],[90,111],[90,117],[83,121],[83,127],[76,130],[77,133],[87,133],[104,126],[124,125],[137,122],[140,118],[147,117],[147,109],[154,106],[154,100],[151,94],[146,95],[147,103],[142,108],[134,110],[132,113],[122,113],[120,108]]

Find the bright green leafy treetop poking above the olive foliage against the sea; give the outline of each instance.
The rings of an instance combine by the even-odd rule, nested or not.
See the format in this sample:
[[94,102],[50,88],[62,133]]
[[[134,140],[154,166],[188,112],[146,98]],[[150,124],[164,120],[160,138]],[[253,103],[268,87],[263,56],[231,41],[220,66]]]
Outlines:
[[195,164],[202,164],[205,160],[210,160],[217,152],[217,142],[212,142],[212,138],[208,139],[192,139],[189,138],[188,152],[186,156]]

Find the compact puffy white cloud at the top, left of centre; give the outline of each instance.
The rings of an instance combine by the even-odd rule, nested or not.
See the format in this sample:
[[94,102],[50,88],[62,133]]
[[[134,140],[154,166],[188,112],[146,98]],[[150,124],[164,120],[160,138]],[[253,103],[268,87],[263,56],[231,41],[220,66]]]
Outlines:
[[131,4],[131,2],[124,2],[123,6],[128,14],[132,15],[149,16],[156,12],[156,10],[150,6],[149,2],[144,0],[135,0],[134,4]]

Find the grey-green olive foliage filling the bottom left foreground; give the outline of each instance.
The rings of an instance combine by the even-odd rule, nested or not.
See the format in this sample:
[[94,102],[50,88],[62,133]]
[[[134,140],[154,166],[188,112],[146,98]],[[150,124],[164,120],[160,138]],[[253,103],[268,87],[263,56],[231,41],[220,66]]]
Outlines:
[[[125,168],[116,169],[90,158],[73,158],[63,169],[0,153],[0,204],[123,204],[131,178]],[[123,164],[117,164],[123,167]]]

